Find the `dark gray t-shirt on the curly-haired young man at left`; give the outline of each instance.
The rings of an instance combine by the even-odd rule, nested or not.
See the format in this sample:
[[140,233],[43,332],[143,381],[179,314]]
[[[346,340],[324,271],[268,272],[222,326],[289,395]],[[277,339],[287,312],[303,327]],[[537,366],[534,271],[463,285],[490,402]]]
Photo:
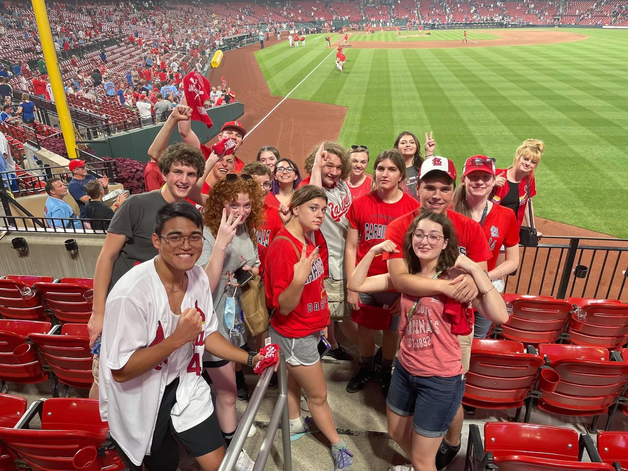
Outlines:
[[155,218],[166,204],[168,202],[161,196],[161,190],[154,190],[132,195],[114,214],[107,232],[126,236],[126,242],[114,262],[107,293],[134,264],[143,263],[157,255],[153,246]]

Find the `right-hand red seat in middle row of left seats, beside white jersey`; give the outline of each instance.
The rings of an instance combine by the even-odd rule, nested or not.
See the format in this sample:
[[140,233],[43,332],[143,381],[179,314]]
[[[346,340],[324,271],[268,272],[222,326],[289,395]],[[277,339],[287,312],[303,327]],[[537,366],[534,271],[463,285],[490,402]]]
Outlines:
[[28,340],[36,345],[55,375],[55,398],[60,395],[58,382],[65,384],[63,397],[67,394],[68,386],[82,389],[92,387],[94,376],[87,324],[57,325],[49,333],[30,333]]

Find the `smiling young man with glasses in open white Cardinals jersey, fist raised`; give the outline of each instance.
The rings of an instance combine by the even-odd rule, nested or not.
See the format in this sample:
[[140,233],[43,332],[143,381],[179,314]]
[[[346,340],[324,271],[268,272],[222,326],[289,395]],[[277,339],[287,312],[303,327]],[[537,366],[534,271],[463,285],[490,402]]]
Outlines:
[[[107,296],[100,347],[100,416],[141,470],[175,471],[175,437],[203,471],[218,469],[223,437],[201,377],[205,351],[249,365],[263,357],[217,332],[207,275],[195,266],[203,220],[188,202],[162,207],[153,245],[158,256],[129,270]],[[242,452],[237,471],[252,469]]]

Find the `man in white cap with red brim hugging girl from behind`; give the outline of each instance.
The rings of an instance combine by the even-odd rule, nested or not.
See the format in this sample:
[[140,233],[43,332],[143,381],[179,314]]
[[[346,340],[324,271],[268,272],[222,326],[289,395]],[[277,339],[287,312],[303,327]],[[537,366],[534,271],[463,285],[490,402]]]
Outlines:
[[[452,221],[458,237],[460,253],[469,257],[483,269],[487,269],[487,261],[490,260],[492,254],[489,250],[489,244],[482,233],[482,227],[474,220],[448,209],[449,204],[452,202],[455,186],[456,169],[451,160],[440,156],[426,159],[421,165],[417,182],[421,207],[389,224],[386,230],[386,239],[393,241],[397,247],[403,247],[408,227],[421,210],[431,210],[438,214],[445,214]],[[452,281],[421,278],[420,276],[409,274],[403,254],[384,253],[382,257],[387,261],[388,273],[391,276],[395,289],[399,293],[409,296],[443,294],[461,303],[468,303],[474,300],[479,293],[477,285],[469,275],[457,276]],[[468,371],[469,367],[472,339],[473,333],[458,337],[460,348],[462,349],[462,364],[465,372]],[[458,451],[460,451],[460,433],[462,432],[463,418],[464,413],[461,406],[436,455],[436,469],[447,467]]]

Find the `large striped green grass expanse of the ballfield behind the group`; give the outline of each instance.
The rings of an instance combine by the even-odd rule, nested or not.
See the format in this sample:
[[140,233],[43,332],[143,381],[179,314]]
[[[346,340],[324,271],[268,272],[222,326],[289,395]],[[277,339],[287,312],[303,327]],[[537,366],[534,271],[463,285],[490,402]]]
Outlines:
[[433,131],[436,154],[460,167],[474,154],[506,167],[524,139],[543,139],[536,213],[628,237],[628,31],[573,31],[590,37],[530,46],[348,49],[342,74],[322,35],[308,36],[305,48],[280,43],[256,56],[279,96],[323,61],[290,97],[347,106],[340,141],[368,144],[371,156],[403,130],[420,139]]

